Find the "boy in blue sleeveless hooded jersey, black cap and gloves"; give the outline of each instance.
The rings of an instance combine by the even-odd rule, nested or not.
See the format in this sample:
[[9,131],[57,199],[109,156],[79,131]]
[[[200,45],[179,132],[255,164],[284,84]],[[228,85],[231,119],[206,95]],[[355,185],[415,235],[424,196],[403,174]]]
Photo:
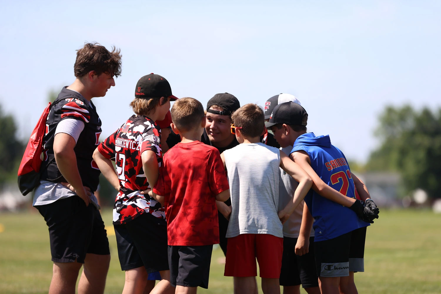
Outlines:
[[[302,106],[285,102],[274,108],[265,126],[271,128],[281,147],[293,145],[291,159],[314,181],[314,191],[308,193],[305,203],[315,219],[314,253],[321,293],[355,294],[354,272],[364,271],[366,227],[378,218],[378,208],[363,182],[351,173],[344,154],[331,145],[329,136],[306,132],[307,119]],[[355,186],[366,201],[365,207],[363,201],[355,199]],[[304,225],[312,225],[309,214],[302,220]]]

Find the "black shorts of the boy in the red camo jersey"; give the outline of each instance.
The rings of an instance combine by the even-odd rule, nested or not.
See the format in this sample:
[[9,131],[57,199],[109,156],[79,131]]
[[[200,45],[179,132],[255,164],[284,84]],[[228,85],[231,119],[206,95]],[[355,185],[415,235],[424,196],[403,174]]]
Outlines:
[[121,270],[144,266],[147,272],[168,270],[167,223],[143,213],[135,219],[114,224]]

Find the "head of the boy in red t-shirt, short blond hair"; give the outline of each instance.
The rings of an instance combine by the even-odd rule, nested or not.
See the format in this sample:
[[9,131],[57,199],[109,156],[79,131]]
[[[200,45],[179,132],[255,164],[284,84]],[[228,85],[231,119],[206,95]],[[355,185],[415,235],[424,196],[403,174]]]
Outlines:
[[200,127],[205,116],[201,102],[191,97],[176,100],[170,112],[176,128],[184,131]]

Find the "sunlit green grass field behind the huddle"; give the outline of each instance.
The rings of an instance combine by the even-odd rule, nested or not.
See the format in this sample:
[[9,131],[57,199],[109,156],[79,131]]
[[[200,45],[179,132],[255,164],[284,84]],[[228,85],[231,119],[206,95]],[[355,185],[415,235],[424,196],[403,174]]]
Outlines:
[[[111,225],[110,210],[103,212],[103,219]],[[367,230],[366,272],[355,274],[359,293],[440,294],[440,225],[441,215],[430,211],[382,210],[380,219]],[[124,273],[115,235],[108,232],[112,261],[105,293],[121,293]],[[221,257],[221,249],[213,250],[209,289],[199,288],[198,293],[232,293],[232,278],[224,277]],[[50,259],[49,234],[37,210],[0,214],[1,294],[47,293],[52,277]]]

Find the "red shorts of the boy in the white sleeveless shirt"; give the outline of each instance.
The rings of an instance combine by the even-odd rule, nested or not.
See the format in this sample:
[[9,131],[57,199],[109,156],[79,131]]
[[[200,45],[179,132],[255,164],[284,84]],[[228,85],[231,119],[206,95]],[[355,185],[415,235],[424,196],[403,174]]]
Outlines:
[[282,254],[283,238],[270,234],[240,234],[228,238],[224,275],[256,276],[257,258],[260,277],[279,279]]

